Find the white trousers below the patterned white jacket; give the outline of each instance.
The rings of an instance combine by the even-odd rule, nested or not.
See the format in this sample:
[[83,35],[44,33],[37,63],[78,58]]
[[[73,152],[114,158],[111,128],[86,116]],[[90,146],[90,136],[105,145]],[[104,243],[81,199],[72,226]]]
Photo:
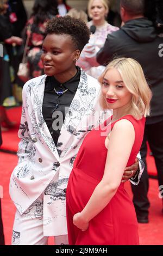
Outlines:
[[[54,237],[55,245],[68,245],[68,236]],[[47,245],[48,236],[43,235],[43,195],[22,215],[15,214],[12,245]]]

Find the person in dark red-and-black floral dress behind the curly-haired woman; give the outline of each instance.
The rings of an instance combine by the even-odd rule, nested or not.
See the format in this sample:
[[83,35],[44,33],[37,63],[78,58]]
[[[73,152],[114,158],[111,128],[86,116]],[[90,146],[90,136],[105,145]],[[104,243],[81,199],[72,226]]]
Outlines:
[[45,27],[47,21],[56,15],[58,15],[57,0],[35,0],[33,13],[27,22],[27,34],[30,36],[27,53],[29,79],[44,74],[40,57]]

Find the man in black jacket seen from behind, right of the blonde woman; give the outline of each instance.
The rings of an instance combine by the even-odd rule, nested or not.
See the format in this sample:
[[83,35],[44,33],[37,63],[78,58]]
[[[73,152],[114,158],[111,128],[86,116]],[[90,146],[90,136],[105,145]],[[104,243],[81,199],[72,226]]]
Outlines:
[[[155,3],[159,2],[155,1]],[[153,3],[154,1],[152,1]],[[162,1],[160,3],[161,5],[156,7],[156,10],[159,10],[159,16],[163,13]],[[147,1],[147,5],[149,5],[149,1]],[[97,61],[101,65],[107,63],[115,54],[120,57],[130,57],[138,60],[153,93],[151,115],[146,119],[145,134],[140,149],[142,160],[145,163],[145,170],[139,185],[137,187],[132,186],[133,202],[139,223],[149,222],[150,203],[147,197],[149,181],[146,164],[147,141],[154,156],[161,189],[163,184],[163,58],[159,53],[162,37],[160,36],[161,31],[158,34],[155,28],[155,24],[158,23],[157,17],[154,19],[155,23],[148,20],[144,15],[145,9],[144,0],[121,0],[121,18],[124,26],[114,34],[108,35],[103,48],[97,53]],[[160,9],[162,10],[161,12]],[[151,9],[151,13],[152,15],[155,14],[155,8]],[[147,14],[149,15],[149,10],[146,10]],[[163,28],[163,26],[160,26],[161,23],[163,24],[161,21],[158,23],[159,29]],[[155,63],[154,66],[153,63]],[[161,207],[163,209],[163,204]]]

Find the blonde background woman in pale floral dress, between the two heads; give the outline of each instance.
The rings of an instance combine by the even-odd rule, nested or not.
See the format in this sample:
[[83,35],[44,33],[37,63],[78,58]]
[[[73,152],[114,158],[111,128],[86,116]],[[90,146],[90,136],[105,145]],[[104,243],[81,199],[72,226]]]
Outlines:
[[103,47],[106,36],[119,28],[110,25],[105,20],[109,12],[108,0],[89,0],[87,10],[92,19],[87,23],[87,26],[92,34],[89,44],[84,47],[77,65],[88,75],[97,78],[101,75],[104,67],[99,66],[96,61],[96,54]]

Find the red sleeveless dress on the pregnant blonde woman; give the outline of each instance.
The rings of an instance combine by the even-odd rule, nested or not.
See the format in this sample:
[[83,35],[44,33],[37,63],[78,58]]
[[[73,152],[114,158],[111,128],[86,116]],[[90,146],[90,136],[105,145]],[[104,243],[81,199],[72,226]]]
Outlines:
[[[141,147],[145,118],[136,120],[132,115],[126,115],[120,119],[129,120],[135,129],[135,141],[127,163],[127,166],[130,166],[135,162]],[[115,123],[116,121],[111,124],[111,129]],[[106,124],[107,120],[104,126]],[[139,245],[134,205],[123,183],[118,187],[109,204],[92,218],[86,231],[73,225],[73,215],[84,209],[104,174],[107,149],[104,143],[106,136],[101,136],[102,132],[103,129],[101,130],[99,126],[98,130],[90,131],[85,137],[68,180],[66,191],[68,240],[70,245]]]

